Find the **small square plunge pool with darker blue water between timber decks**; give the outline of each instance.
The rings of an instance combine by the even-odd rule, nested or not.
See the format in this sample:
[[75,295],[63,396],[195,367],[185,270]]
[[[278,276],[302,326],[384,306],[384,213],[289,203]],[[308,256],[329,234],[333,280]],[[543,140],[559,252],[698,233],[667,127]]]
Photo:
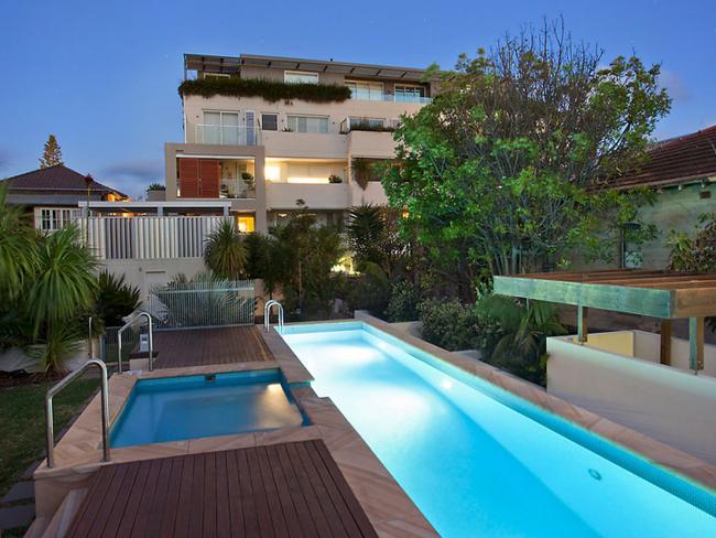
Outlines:
[[140,379],[110,433],[112,448],[305,424],[279,370]]

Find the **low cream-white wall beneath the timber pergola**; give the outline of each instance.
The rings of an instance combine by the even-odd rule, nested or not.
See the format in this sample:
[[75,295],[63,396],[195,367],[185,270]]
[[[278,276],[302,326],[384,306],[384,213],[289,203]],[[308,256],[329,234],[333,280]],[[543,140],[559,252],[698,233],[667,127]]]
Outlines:
[[[636,335],[637,354],[646,351],[648,334]],[[579,345],[573,338],[547,338],[550,394],[716,463],[715,377],[663,366],[659,358]],[[658,357],[658,345],[655,349]],[[676,357],[681,361],[674,352],[672,361]]]

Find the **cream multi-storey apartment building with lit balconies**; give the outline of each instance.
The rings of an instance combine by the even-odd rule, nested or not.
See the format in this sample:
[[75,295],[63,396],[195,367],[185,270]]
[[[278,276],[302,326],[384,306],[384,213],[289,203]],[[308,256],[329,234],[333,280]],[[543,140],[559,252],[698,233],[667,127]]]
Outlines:
[[[165,144],[166,200],[228,200],[243,232],[300,209],[336,223],[354,205],[384,204],[372,166],[394,155],[400,117],[438,90],[423,69],[333,60],[186,54],[184,71],[195,92],[180,88],[184,141]],[[237,78],[259,89],[237,92]],[[334,97],[271,92],[292,84],[327,85],[316,90]]]

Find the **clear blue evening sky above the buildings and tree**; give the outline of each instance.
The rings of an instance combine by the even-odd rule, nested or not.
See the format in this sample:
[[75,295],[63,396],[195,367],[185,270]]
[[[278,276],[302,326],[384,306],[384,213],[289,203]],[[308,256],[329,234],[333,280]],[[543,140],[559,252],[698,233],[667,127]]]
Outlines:
[[67,165],[132,196],[163,183],[163,143],[183,140],[185,52],[452,67],[561,14],[606,60],[663,64],[674,103],[658,138],[716,123],[714,0],[2,0],[0,177],[37,168],[53,132]]

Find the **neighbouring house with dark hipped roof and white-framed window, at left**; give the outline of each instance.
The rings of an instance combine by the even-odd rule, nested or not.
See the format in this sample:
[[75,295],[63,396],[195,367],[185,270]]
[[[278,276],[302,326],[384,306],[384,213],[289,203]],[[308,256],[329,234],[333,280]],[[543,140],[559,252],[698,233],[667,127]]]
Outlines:
[[79,202],[119,202],[128,196],[117,189],[90,180],[64,164],[33,170],[8,177],[8,202],[22,205],[34,215],[35,228],[53,232],[76,220],[80,216]]

